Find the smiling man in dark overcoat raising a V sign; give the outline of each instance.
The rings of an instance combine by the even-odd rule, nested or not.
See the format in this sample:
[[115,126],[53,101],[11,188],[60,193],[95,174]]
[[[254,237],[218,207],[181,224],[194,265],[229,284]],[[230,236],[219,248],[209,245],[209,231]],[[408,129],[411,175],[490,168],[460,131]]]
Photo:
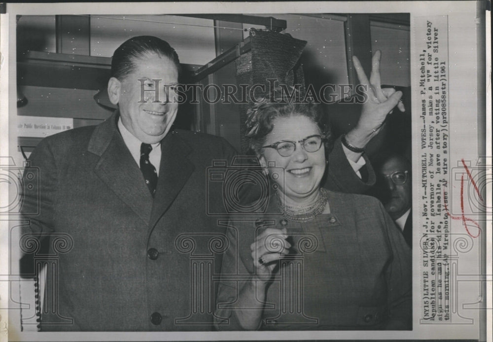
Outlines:
[[[166,41],[125,41],[114,52],[107,88],[118,110],[97,126],[45,138],[31,154],[40,198],[25,194],[26,236],[50,238],[49,253],[58,258],[42,331],[212,329],[211,276],[221,266],[215,242],[225,229],[208,215],[208,205],[224,203],[220,187],[208,189],[207,175],[214,160],[230,165],[236,152],[223,138],[172,127],[179,72]],[[376,105],[382,120],[397,102],[394,96]],[[372,127],[365,130],[370,136]],[[356,176],[345,153],[339,141],[328,179],[362,191],[371,184]]]

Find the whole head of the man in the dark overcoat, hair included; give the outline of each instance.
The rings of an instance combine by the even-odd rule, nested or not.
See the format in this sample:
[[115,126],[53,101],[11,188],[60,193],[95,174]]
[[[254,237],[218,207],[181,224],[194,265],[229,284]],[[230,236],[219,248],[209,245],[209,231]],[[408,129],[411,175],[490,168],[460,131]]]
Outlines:
[[133,39],[118,48],[108,81],[109,100],[118,105],[123,127],[146,144],[159,143],[166,136],[178,111],[173,90],[178,83],[178,56],[158,41],[154,48],[153,40]]

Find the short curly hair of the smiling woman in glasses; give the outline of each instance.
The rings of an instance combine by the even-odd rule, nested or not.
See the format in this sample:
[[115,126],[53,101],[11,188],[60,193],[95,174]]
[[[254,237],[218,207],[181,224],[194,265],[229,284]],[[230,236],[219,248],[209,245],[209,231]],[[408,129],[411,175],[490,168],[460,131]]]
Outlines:
[[[286,92],[290,91],[289,96]],[[294,92],[294,93],[293,93]],[[317,124],[320,135],[326,138],[326,155],[332,150],[330,126],[320,107],[313,102],[302,102],[295,88],[283,89],[277,87],[269,99],[255,103],[248,111],[246,120],[246,136],[249,138],[249,148],[255,155],[262,154],[267,135],[274,128],[273,121],[282,117],[305,116]]]

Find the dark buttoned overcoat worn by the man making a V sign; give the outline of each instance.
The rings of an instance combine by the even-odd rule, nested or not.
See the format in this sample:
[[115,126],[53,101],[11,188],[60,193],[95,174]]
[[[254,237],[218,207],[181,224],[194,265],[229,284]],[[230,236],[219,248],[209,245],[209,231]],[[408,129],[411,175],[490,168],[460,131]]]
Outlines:
[[[26,192],[22,212],[39,208],[26,215],[29,233],[52,233],[58,267],[41,330],[211,330],[214,290],[204,279],[220,269],[220,177],[235,151],[219,137],[170,131],[153,199],[117,115],[47,137],[31,154],[40,198]],[[225,162],[211,175],[215,159]],[[339,164],[352,172],[345,156]]]

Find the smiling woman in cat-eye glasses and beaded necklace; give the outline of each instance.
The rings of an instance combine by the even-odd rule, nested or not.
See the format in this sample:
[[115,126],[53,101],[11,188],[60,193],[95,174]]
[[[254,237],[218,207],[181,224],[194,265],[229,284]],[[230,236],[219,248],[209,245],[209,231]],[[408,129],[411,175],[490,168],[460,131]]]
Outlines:
[[320,187],[331,145],[318,107],[274,94],[247,125],[275,191],[262,215],[228,223],[216,327],[411,329],[410,250],[377,199]]

